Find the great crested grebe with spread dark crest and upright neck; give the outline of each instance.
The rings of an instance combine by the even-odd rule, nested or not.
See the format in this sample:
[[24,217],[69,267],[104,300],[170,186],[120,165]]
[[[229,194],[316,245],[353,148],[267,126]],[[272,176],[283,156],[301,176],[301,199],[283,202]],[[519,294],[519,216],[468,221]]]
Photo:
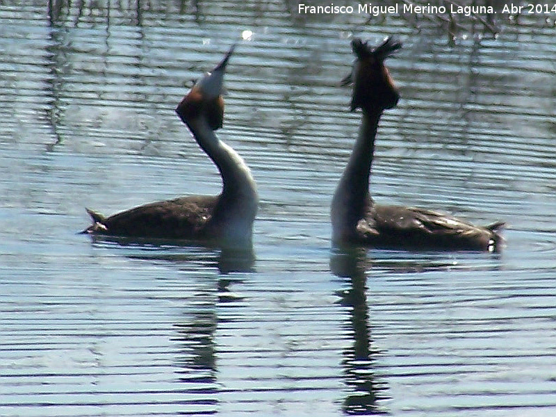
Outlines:
[[363,113],[359,136],[332,199],[334,245],[366,245],[409,250],[477,250],[497,252],[504,226],[478,227],[436,211],[375,204],[369,194],[370,167],[382,112],[400,95],[384,60],[402,47],[388,38],[376,48],[352,40],[357,57],[343,85],[352,84],[351,110]]

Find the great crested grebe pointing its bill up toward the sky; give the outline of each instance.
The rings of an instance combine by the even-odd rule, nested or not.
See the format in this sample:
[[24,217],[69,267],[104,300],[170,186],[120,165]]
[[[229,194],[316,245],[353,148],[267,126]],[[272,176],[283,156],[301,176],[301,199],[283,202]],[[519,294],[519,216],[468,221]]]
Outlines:
[[222,175],[220,195],[194,195],[154,202],[104,217],[87,208],[93,224],[83,233],[131,238],[201,240],[251,245],[259,197],[249,167],[215,135],[222,127],[222,83],[234,47],[213,72],[197,81],[176,113]]

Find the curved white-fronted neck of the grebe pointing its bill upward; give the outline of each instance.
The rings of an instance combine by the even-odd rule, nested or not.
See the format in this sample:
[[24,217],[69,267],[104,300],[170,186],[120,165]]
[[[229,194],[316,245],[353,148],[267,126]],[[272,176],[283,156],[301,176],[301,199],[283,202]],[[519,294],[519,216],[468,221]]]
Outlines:
[[256,185],[243,158],[214,133],[204,117],[188,120],[199,146],[213,160],[222,176],[222,197],[236,201],[256,200]]

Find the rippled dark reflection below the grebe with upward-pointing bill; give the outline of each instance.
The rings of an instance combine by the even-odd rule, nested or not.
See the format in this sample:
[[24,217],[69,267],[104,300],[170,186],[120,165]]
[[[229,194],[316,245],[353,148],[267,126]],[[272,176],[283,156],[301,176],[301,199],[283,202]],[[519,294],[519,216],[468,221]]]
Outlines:
[[[190,297],[188,302],[179,304],[179,320],[172,325],[174,335],[171,340],[176,347],[175,373],[181,383],[180,404],[188,413],[192,409],[198,414],[217,412],[220,389],[215,337],[219,322],[218,304],[240,299],[231,287],[243,282],[242,272],[254,272],[253,250],[211,250],[193,244],[179,246],[175,240],[144,241],[101,235],[92,236],[92,241],[99,247],[116,245],[119,254],[128,259],[166,264],[186,274],[195,271],[193,279],[188,277],[183,284],[183,297],[188,297],[187,293]],[[203,270],[208,270],[207,275],[201,272]]]

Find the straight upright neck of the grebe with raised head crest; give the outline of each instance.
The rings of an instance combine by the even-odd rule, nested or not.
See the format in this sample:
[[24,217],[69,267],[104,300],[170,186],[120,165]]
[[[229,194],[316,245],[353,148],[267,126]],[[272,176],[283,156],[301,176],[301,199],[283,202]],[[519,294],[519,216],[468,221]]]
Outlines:
[[363,111],[359,136],[332,199],[332,226],[336,238],[350,234],[372,204],[370,168],[382,112]]

